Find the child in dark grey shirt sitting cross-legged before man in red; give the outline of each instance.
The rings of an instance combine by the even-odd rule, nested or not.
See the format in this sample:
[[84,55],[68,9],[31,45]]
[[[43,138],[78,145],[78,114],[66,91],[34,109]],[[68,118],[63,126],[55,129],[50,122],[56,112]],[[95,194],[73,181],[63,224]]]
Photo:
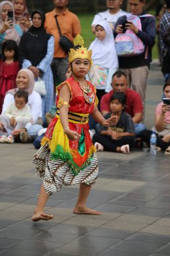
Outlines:
[[117,115],[118,122],[111,127],[100,125],[99,132],[93,136],[97,151],[129,154],[134,144],[134,124],[130,115],[124,111],[125,106],[126,95],[123,92],[115,92],[110,100],[111,112],[105,115],[105,119]]

